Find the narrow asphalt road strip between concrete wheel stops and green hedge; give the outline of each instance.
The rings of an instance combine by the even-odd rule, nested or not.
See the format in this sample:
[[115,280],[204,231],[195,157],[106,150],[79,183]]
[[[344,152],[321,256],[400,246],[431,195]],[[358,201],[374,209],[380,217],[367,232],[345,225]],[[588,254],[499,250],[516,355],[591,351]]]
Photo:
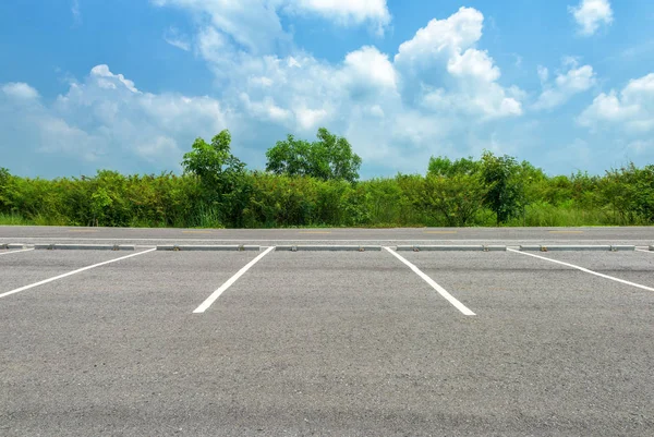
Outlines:
[[417,229],[131,229],[0,227],[0,243],[112,242],[121,244],[169,244],[171,242],[225,242],[292,244],[322,241],[368,242],[393,245],[424,242],[548,242],[654,244],[654,227],[633,228],[417,228]]

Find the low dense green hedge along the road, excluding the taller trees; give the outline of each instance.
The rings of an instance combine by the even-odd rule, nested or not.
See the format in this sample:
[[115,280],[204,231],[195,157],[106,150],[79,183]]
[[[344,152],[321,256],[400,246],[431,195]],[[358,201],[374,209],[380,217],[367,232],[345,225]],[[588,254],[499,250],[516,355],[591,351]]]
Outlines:
[[[654,166],[524,182],[508,226],[654,223]],[[29,179],[0,170],[0,222],[108,227],[494,226],[480,174],[358,183],[244,171],[219,199],[194,174]]]

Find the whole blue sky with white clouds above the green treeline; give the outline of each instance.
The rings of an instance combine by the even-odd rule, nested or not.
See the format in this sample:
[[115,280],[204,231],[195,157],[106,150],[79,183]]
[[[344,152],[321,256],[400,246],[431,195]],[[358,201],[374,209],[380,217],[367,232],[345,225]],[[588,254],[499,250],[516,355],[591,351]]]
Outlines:
[[232,133],[346,136],[362,175],[489,149],[550,174],[654,162],[647,0],[0,2],[0,167],[180,171]]

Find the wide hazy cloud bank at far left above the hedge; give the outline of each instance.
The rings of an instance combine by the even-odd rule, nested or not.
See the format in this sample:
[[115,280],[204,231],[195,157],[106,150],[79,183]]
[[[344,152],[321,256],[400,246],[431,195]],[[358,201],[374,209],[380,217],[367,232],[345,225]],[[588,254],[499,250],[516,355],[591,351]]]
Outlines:
[[[93,68],[81,83],[52,102],[27,84],[5,84],[0,93],[0,141],[20,138],[22,154],[65,157],[84,171],[111,168],[178,168],[182,150],[197,135],[228,124],[220,104],[208,97],[143,93],[107,65]],[[41,159],[48,165],[48,159]],[[38,169],[44,171],[43,169]]]

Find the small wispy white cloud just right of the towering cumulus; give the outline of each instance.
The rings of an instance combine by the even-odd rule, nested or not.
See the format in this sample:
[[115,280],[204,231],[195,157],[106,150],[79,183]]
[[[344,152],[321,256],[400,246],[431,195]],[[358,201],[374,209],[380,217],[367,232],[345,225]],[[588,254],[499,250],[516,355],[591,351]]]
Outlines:
[[569,70],[557,74],[554,84],[547,82],[549,71],[538,66],[543,93],[534,105],[534,109],[553,109],[561,106],[576,94],[583,93],[597,83],[595,71],[591,65],[579,66],[578,61],[573,58],[564,59],[564,65]]

